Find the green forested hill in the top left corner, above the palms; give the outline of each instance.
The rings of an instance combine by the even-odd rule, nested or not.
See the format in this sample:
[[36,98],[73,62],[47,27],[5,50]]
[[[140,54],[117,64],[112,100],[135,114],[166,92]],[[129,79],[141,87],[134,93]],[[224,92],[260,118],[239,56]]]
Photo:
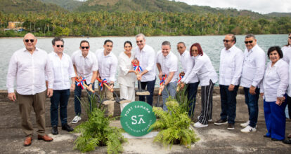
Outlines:
[[43,13],[48,11],[65,11],[53,3],[43,3],[36,0],[1,0],[0,11],[3,13]]

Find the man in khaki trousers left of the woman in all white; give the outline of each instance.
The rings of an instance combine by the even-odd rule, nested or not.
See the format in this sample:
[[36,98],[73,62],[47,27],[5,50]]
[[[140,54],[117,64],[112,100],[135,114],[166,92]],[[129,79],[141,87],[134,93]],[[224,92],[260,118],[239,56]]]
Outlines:
[[[98,59],[99,70],[97,72],[98,78],[101,80],[106,79],[107,83],[110,85],[110,89],[113,90],[115,83],[115,73],[118,65],[118,59],[112,53],[113,42],[111,40],[105,40],[103,48],[96,50],[96,57]],[[99,83],[100,85],[100,83]],[[101,89],[101,86],[99,86]],[[102,88],[103,95],[108,100],[114,100],[113,93],[108,90],[107,87]],[[113,109],[114,110],[114,109]]]

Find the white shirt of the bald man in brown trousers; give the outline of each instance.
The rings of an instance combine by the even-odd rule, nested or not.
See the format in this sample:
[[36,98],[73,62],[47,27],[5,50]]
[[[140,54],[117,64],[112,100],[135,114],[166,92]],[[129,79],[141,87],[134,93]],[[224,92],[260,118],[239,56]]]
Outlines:
[[14,92],[14,80],[16,78],[16,91],[19,94],[29,95],[44,92],[46,90],[46,76],[48,88],[53,88],[53,69],[48,54],[39,48],[35,48],[30,54],[26,48],[13,53],[9,62],[7,73],[8,93]]

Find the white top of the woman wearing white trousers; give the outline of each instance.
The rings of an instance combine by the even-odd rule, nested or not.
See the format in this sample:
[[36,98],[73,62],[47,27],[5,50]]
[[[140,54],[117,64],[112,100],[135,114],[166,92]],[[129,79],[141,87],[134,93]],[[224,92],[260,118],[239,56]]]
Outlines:
[[129,70],[134,70],[131,61],[134,59],[134,54],[128,57],[124,52],[121,52],[118,57],[119,73],[118,83],[126,85],[127,87],[134,87],[136,81],[136,74],[129,73]]

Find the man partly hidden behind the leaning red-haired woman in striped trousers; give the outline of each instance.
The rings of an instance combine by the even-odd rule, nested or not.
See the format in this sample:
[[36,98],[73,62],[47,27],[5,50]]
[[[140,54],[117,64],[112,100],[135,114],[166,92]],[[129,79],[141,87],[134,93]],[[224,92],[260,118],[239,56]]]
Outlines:
[[[183,71],[181,73],[184,74],[184,76],[189,74],[193,67],[194,67],[194,60],[190,57],[190,52],[186,50],[186,45],[183,42],[179,42],[177,44],[177,50],[180,54],[180,62]],[[181,79],[179,79],[181,80]],[[197,76],[193,76],[193,78],[190,80],[190,83],[187,84],[187,94],[188,94],[188,101],[189,101],[189,111],[188,115],[190,118],[193,118],[194,115],[194,109],[195,109],[195,102],[196,102],[196,94],[198,90],[199,80]],[[181,82],[181,88],[183,88],[184,84]]]

